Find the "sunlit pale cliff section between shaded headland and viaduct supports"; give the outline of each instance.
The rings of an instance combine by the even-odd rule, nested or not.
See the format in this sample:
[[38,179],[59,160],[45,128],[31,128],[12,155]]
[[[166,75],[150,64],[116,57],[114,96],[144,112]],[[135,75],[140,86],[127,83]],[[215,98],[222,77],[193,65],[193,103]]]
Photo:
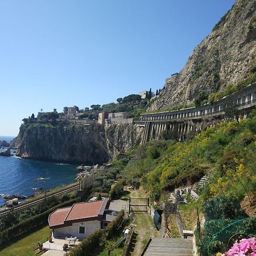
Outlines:
[[143,127],[135,125],[113,125],[106,128],[106,143],[111,158],[137,146],[142,139]]

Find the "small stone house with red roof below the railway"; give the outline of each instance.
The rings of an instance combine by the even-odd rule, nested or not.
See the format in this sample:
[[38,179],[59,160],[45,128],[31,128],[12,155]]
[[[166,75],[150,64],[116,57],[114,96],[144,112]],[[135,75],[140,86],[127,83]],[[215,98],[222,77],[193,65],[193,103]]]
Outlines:
[[53,238],[66,236],[84,239],[97,229],[104,229],[115,216],[106,209],[108,199],[77,203],[49,214],[49,227]]

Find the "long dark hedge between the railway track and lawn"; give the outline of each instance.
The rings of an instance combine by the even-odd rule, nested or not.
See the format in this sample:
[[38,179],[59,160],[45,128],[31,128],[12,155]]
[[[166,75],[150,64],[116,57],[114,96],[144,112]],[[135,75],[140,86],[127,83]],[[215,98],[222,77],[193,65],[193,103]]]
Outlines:
[[28,232],[31,232],[32,230],[35,230],[39,226],[47,224],[48,216],[50,213],[53,212],[53,210],[56,210],[61,207],[67,207],[76,202],[77,202],[77,199],[72,199],[65,203],[58,204],[55,207],[52,207],[51,209],[46,210],[46,212],[43,212],[36,216],[28,218],[27,220],[24,220],[15,226],[11,226],[11,228],[3,230],[2,232],[0,232],[0,246],[3,245],[3,243],[10,242],[14,238],[17,238],[23,234],[26,234]]

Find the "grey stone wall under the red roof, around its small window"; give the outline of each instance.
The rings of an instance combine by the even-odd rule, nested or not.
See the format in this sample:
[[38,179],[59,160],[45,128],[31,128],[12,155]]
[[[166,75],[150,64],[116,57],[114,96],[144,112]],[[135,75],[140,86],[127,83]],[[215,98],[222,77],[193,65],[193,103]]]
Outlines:
[[[79,226],[85,226],[85,234],[79,234]],[[53,237],[56,234],[61,234],[63,236],[72,236],[77,237],[79,240],[88,237],[89,234],[92,234],[95,230],[101,228],[101,222],[98,220],[94,221],[85,221],[73,223],[72,226],[65,226],[64,228],[55,228],[53,231]]]

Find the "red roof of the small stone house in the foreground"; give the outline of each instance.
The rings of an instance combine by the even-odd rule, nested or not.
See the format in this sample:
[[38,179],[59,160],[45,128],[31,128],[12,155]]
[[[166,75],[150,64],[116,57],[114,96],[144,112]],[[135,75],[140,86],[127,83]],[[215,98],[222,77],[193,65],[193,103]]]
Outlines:
[[[73,204],[72,207],[60,208],[49,214],[50,228],[69,226],[74,222],[101,219],[108,200],[98,200]],[[104,208],[104,209],[103,209]]]

